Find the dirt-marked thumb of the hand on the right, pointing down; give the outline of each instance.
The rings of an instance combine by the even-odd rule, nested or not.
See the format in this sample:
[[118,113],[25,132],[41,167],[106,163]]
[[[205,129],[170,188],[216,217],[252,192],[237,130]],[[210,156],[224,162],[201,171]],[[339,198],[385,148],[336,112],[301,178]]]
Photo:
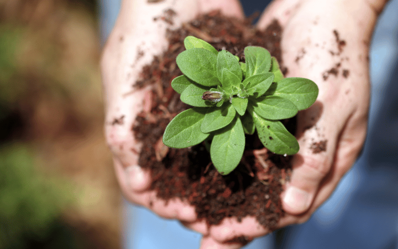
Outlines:
[[298,139],[300,150],[292,160],[291,181],[286,184],[282,194],[283,208],[290,214],[301,214],[308,210],[334,159],[336,132],[340,127],[338,120],[328,120],[322,116],[317,124],[305,129],[307,122],[317,117],[318,112],[315,105],[298,114],[298,133],[304,131]]

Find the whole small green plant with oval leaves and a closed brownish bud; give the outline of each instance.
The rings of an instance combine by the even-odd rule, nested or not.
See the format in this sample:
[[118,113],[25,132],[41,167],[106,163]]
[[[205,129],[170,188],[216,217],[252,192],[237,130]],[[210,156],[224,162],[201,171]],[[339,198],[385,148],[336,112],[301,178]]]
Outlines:
[[193,36],[186,37],[184,45],[187,50],[177,56],[184,75],[171,85],[181,101],[194,108],[167,125],[165,145],[186,148],[211,140],[211,161],[223,175],[239,164],[245,133],[257,130],[261,142],[274,153],[298,152],[298,141],[279,120],[292,118],[315,102],[314,82],[284,78],[276,58],[262,47],[246,47],[243,63]]

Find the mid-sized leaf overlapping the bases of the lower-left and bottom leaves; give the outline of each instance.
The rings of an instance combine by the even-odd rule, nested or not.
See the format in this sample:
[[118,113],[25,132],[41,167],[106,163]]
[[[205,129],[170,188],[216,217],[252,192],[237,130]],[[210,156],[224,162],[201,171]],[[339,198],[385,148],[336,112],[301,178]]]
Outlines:
[[210,107],[204,116],[200,129],[204,133],[220,129],[230,124],[235,118],[235,109],[231,104],[224,105],[222,108]]

